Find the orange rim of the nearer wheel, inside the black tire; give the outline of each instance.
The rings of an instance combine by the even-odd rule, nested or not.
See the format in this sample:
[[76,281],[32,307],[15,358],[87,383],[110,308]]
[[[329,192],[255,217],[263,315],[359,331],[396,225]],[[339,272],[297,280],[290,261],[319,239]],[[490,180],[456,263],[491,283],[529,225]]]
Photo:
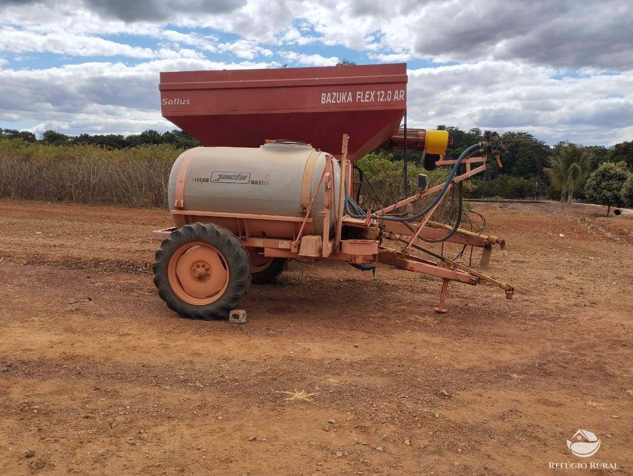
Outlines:
[[180,246],[169,260],[167,279],[185,303],[215,303],[229,287],[229,265],[215,246],[192,241]]

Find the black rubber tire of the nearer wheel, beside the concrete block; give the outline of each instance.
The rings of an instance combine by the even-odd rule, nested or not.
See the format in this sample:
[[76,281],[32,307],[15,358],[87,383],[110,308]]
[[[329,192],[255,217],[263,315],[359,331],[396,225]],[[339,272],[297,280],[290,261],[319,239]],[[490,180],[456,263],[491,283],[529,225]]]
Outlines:
[[[222,253],[223,267],[229,272],[227,287],[213,303],[197,305],[187,303],[172,289],[168,269],[173,254],[190,242],[203,242]],[[251,284],[251,261],[242,241],[229,230],[213,223],[191,223],[173,231],[156,251],[152,266],[158,295],[167,307],[179,316],[189,319],[213,320],[223,318],[242,302]]]

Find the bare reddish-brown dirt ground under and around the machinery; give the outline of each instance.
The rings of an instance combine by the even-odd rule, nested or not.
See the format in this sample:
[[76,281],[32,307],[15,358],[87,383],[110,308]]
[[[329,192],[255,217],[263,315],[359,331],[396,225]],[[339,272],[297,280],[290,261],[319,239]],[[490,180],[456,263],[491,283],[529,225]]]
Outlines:
[[166,211],[0,200],[0,474],[633,474],[633,219],[477,210],[511,301],[292,262],[235,325],[158,297]]

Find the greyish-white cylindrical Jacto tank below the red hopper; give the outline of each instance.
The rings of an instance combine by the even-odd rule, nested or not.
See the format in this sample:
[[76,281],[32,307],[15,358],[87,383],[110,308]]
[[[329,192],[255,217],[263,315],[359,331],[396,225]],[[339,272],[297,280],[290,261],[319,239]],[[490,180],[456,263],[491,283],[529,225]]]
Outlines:
[[[310,204],[325,169],[325,156],[326,153],[312,146],[290,141],[270,142],[257,149],[190,149],[180,154],[172,167],[168,191],[170,210],[178,194],[178,178],[184,175],[184,188],[180,191],[184,210],[303,217],[303,210]],[[338,161],[333,160],[333,163],[334,205],[341,167]],[[181,167],[186,170],[181,171]],[[316,234],[323,233],[320,212],[324,197],[325,182],[316,194],[310,213]],[[330,227],[334,225],[334,215],[330,214]]]

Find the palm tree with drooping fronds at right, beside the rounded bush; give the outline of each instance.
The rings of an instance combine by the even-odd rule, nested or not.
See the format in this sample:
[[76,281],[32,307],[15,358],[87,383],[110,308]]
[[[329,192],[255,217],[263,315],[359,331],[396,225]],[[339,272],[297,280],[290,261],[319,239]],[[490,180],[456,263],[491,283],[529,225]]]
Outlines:
[[565,201],[567,194],[567,203],[572,202],[574,189],[591,170],[591,158],[591,152],[576,144],[567,144],[558,154],[549,157],[549,167],[543,170],[552,184],[561,190],[560,201]]

